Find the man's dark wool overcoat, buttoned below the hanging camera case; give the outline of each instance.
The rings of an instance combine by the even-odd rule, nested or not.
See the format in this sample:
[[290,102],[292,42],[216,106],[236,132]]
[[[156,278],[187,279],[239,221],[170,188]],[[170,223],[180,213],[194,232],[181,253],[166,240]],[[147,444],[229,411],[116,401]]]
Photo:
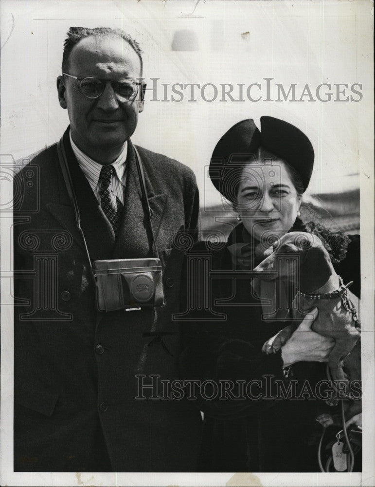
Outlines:
[[[116,240],[79,169],[68,130],[64,145],[91,261],[147,257],[150,242],[131,142]],[[16,177],[17,471],[100,471],[107,452],[113,471],[195,470],[199,412],[184,400],[135,397],[139,380],[150,384],[150,375],[176,378],[178,329],[171,315],[179,311],[182,255],[172,248],[172,239],[181,227],[196,230],[198,190],[190,169],[138,150],[164,265],[166,306],[110,312],[99,324],[89,262],[56,145],[39,153]]]

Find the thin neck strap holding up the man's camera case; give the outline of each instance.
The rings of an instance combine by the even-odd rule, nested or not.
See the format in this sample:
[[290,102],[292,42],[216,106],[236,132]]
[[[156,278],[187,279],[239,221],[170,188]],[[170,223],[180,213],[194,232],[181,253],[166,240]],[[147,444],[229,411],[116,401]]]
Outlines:
[[[158,248],[156,246],[154,232],[153,232],[152,224],[151,224],[152,210],[151,210],[150,204],[148,202],[142,160],[141,160],[141,157],[139,155],[138,150],[135,147],[134,147],[134,151],[135,151],[135,159],[136,159],[138,177],[139,177],[140,186],[141,186],[141,192],[142,192],[143,212],[144,212],[144,215],[145,215],[145,218],[147,220],[148,227],[149,227],[149,232],[150,232],[150,236],[151,236],[151,240],[152,240],[152,246],[153,246],[153,250],[155,252],[155,256],[156,256],[157,259],[159,259],[159,252],[158,252]],[[59,160],[59,163],[60,163],[61,171],[62,171],[62,174],[63,174],[65,186],[67,188],[68,195],[69,195],[69,198],[71,200],[71,204],[72,204],[73,209],[74,209],[75,221],[77,223],[78,230],[79,230],[80,234],[82,235],[82,239],[83,239],[83,242],[84,242],[84,245],[85,245],[85,250],[86,250],[87,257],[88,257],[89,263],[90,263],[91,274],[92,274],[92,277],[93,277],[94,282],[95,282],[94,274],[93,274],[93,271],[92,271],[90,254],[89,254],[89,248],[88,248],[87,243],[86,243],[85,234],[83,233],[83,230],[82,230],[82,227],[81,227],[81,216],[80,216],[80,213],[79,213],[79,207],[78,207],[77,198],[75,196],[73,183],[71,181],[71,173],[70,173],[70,170],[69,170],[68,158],[67,158],[67,155],[66,155],[66,152],[65,152],[63,137],[61,137],[61,139],[57,142],[57,156],[58,156],[58,160]]]

